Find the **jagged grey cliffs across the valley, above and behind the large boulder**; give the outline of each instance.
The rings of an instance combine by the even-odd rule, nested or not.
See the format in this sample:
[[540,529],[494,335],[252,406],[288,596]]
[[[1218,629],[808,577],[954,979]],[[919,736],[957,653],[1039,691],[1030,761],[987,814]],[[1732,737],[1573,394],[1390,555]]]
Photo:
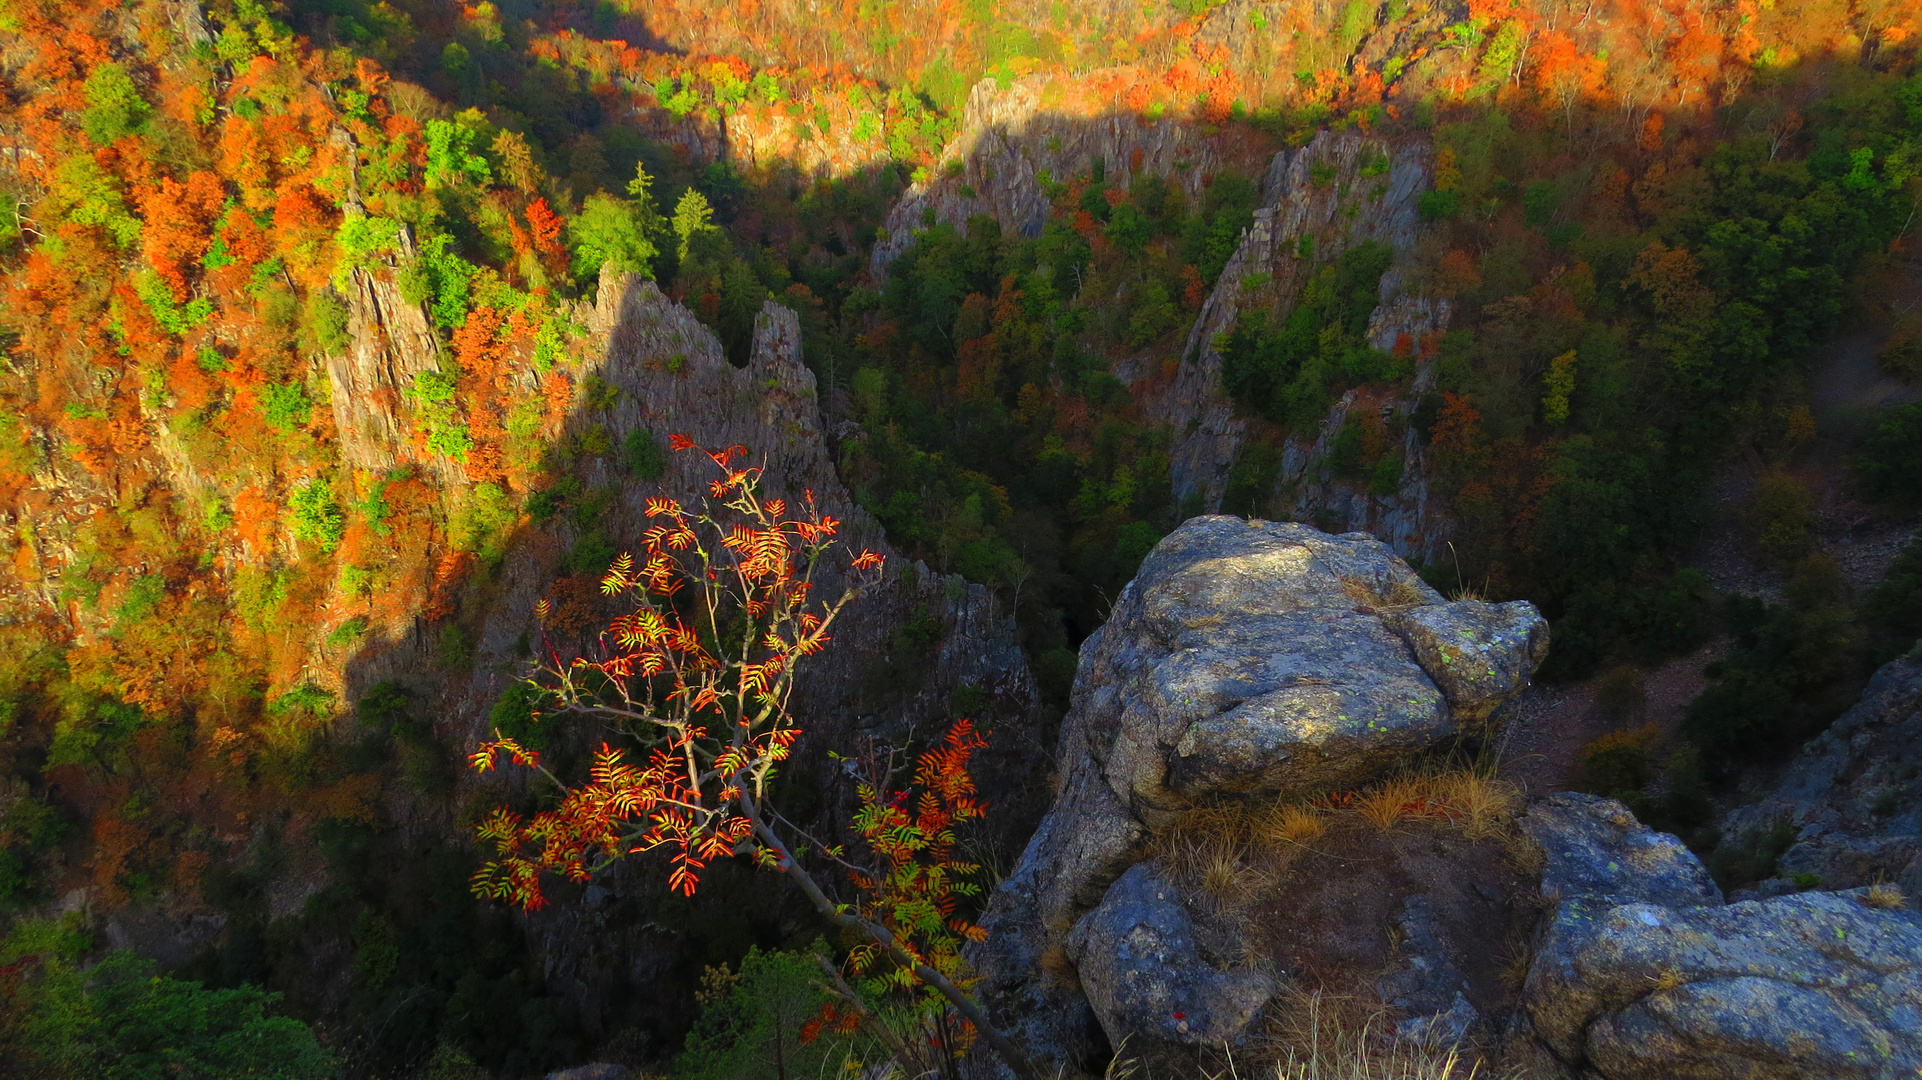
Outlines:
[[[1101,73],[1082,79],[1099,81]],[[1192,119],[1146,119],[1119,102],[1109,110],[1094,106],[1097,102],[1084,92],[1067,94],[1061,77],[1036,75],[1007,86],[980,81],[936,175],[909,186],[888,213],[871,273],[886,275],[932,223],[961,229],[982,213],[1003,231],[1040,234],[1051,209],[1044,179],[1086,173],[1094,161],[1101,161],[1119,186],[1134,175],[1157,175],[1182,186],[1190,200],[1203,196],[1215,171],[1228,165],[1253,171],[1265,161],[1263,206],[1203,302],[1174,377],[1161,375],[1165,357],[1151,352],[1117,361],[1115,375],[1134,386],[1147,419],[1174,430],[1176,500],[1194,498],[1201,509],[1215,511],[1259,423],[1238,415],[1222,390],[1217,338],[1251,311],[1286,319],[1309,277],[1357,244],[1390,246],[1395,265],[1382,277],[1367,338],[1372,348],[1415,357],[1413,386],[1392,394],[1351,390],[1317,430],[1282,438],[1280,471],[1265,503],[1278,515],[1365,528],[1399,553],[1430,557],[1447,538],[1449,523],[1430,498],[1420,436],[1405,423],[1432,390],[1432,361],[1451,313],[1447,300],[1411,288],[1405,273],[1418,233],[1417,198],[1428,186],[1428,146],[1340,131],[1265,158],[1247,140],[1224,144]],[[1330,475],[1334,440],[1355,409],[1372,409],[1401,429],[1403,471],[1393,494],[1370,494],[1367,484]]]

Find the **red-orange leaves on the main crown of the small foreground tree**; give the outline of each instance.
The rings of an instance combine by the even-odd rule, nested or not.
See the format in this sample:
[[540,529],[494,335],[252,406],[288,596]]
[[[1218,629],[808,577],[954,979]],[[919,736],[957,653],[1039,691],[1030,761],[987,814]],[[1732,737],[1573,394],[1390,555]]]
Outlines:
[[[473,878],[479,896],[534,909],[546,901],[544,874],[586,880],[609,859],[657,847],[669,851],[669,886],[686,896],[715,859],[752,853],[775,863],[753,844],[750,815],[801,734],[784,705],[794,671],[821,651],[836,613],[871,575],[834,605],[813,601],[807,575],[838,523],[813,498],[798,519],[786,517],[782,500],[759,502],[759,469],[732,467],[748,455],[744,446],[705,450],[680,434],[671,444],[702,450],[723,471],[715,490],[728,502],[688,509],[650,498],[646,513],[655,523],[644,532],[646,555],[623,553],[600,580],[604,596],[632,603],[602,632],[605,651],[563,665],[550,650],[552,665],[542,667],[542,688],[561,707],[600,711],[646,740],[646,765],[602,746],[586,782],[567,788],[559,807],[525,821],[502,811],[482,822],[480,838],[494,844],[496,859]],[[721,511],[734,519],[719,521]],[[855,571],[880,565],[873,552],[853,559]],[[678,601],[682,590],[694,596]],[[546,607],[538,611],[546,617]],[[730,623],[740,617],[746,626]],[[730,628],[719,630],[717,619]],[[951,740],[930,769],[965,765],[967,753],[965,740]],[[505,738],[482,744],[469,761],[484,773],[502,755],[540,765]],[[953,780],[944,778],[930,824],[978,813],[951,794]]]

